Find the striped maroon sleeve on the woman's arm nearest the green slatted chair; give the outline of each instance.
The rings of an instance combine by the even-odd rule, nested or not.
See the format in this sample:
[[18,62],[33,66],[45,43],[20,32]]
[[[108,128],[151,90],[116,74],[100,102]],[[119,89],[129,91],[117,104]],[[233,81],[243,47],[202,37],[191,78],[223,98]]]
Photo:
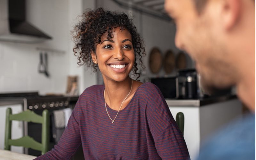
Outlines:
[[75,109],[73,110],[69,120],[68,125],[63,132],[60,141],[54,148],[47,152],[46,154],[39,156],[36,160],[43,160],[43,159],[70,159],[73,154],[76,153],[76,149],[81,144],[81,137],[80,137],[80,128],[79,123],[76,120],[78,117],[78,105],[76,105]]

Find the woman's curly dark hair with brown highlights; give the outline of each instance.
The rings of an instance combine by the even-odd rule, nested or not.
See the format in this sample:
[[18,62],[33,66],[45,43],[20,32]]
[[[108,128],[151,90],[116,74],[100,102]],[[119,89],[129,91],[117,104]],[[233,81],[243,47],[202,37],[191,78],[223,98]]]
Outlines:
[[91,51],[95,52],[96,45],[100,44],[101,36],[108,32],[108,39],[111,39],[113,28],[120,27],[121,29],[128,29],[132,36],[132,45],[135,53],[135,63],[132,68],[133,75],[137,76],[137,80],[140,77],[138,73],[138,63],[142,68],[145,68],[142,64],[142,55],[145,54],[145,47],[143,41],[137,32],[136,27],[125,13],[117,13],[105,11],[103,8],[96,10],[90,10],[84,12],[81,16],[82,20],[75,26],[74,42],[75,47],[73,51],[75,56],[78,57],[77,64],[79,66],[86,65],[87,67],[93,67],[94,72],[97,71],[98,64],[92,62]]

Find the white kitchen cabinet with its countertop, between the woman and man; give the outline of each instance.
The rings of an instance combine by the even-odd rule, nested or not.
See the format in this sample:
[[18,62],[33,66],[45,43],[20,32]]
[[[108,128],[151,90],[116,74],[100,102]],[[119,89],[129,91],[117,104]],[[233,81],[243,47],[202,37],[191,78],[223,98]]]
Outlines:
[[184,114],[184,139],[191,160],[196,158],[205,139],[242,115],[242,103],[236,96],[166,102],[174,118],[178,112]]

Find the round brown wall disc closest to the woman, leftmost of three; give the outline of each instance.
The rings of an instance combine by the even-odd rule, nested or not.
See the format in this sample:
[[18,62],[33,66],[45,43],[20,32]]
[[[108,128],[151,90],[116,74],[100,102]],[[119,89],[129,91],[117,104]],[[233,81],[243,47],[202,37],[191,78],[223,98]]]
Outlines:
[[152,73],[158,73],[162,67],[162,54],[158,48],[153,48],[149,55],[149,69]]

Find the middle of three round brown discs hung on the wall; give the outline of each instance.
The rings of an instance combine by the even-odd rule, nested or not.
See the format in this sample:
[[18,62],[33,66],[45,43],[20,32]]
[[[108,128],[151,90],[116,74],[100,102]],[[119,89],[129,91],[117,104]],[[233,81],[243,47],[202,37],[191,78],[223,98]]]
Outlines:
[[172,73],[175,68],[175,56],[172,50],[168,50],[164,56],[164,71],[166,74]]

